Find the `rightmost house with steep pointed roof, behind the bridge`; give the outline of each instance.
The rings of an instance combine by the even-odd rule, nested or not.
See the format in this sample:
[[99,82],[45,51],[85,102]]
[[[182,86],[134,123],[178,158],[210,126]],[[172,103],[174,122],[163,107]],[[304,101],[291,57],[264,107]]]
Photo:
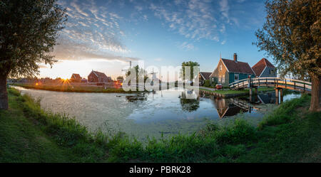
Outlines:
[[252,70],[256,77],[277,77],[277,70],[266,58],[262,58],[258,63],[253,65]]

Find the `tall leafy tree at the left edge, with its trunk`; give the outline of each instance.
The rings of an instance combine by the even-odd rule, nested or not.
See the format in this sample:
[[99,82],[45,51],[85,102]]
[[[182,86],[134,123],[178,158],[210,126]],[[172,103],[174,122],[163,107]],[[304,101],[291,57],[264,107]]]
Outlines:
[[0,1],[0,109],[8,109],[8,76],[32,76],[39,63],[56,61],[51,51],[66,19],[56,0]]

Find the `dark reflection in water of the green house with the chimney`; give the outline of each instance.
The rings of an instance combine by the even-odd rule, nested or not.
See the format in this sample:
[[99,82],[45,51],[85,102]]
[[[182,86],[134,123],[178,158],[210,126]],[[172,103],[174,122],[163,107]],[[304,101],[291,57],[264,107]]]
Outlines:
[[251,107],[249,107],[249,109],[238,107],[236,104],[231,102],[233,99],[227,100],[220,97],[213,97],[212,100],[220,118],[234,116],[240,112],[248,112],[248,110],[251,109]]

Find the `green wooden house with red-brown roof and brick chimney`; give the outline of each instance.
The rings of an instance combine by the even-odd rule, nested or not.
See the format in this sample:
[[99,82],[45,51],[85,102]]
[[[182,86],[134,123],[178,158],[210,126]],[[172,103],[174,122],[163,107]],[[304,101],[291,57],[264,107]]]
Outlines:
[[220,58],[218,66],[210,75],[210,82],[218,82],[226,87],[248,77],[255,77],[255,73],[248,63],[238,61],[238,55],[234,53],[234,60]]

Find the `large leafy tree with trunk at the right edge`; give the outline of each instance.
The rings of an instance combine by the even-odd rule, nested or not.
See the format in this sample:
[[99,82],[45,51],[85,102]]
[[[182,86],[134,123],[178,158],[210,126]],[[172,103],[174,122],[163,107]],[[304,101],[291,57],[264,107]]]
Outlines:
[[254,44],[274,58],[280,75],[312,80],[310,111],[320,111],[321,16],[319,0],[267,0],[266,21]]

